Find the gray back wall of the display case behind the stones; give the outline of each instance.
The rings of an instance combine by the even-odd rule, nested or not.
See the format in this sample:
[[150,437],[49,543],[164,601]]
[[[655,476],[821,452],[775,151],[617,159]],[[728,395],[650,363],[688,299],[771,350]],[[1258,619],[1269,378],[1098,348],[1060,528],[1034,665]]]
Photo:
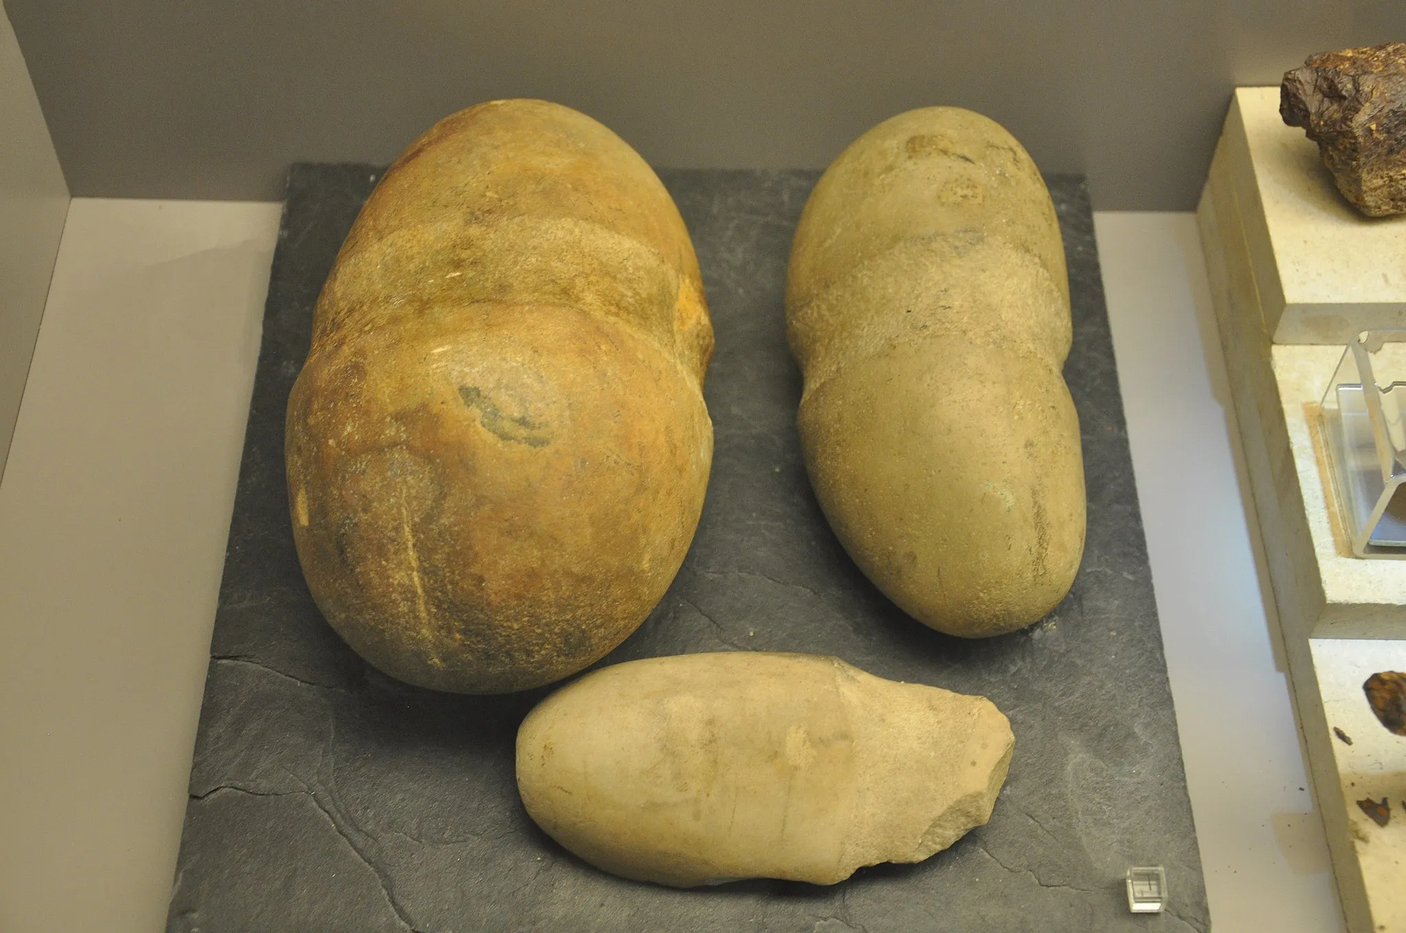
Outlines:
[[1191,209],[1234,84],[1406,39],[1402,0],[8,0],[76,195],[276,198],[494,97],[664,166],[827,164],[959,104],[1102,209]]

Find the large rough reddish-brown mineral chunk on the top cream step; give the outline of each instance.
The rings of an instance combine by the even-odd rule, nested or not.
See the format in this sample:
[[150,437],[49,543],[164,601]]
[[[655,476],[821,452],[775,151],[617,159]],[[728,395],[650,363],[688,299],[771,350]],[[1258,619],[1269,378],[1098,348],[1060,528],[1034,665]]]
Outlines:
[[1284,74],[1279,115],[1367,216],[1406,212],[1406,42],[1322,52]]

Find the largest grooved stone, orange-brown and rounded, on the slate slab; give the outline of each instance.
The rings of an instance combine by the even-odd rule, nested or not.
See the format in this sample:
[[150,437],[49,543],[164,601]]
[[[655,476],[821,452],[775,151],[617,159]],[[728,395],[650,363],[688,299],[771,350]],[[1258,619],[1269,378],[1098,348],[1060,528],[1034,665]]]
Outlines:
[[440,690],[603,656],[693,538],[711,347],[683,221],[614,133],[526,100],[433,126],[347,236],[288,402],[328,621]]

